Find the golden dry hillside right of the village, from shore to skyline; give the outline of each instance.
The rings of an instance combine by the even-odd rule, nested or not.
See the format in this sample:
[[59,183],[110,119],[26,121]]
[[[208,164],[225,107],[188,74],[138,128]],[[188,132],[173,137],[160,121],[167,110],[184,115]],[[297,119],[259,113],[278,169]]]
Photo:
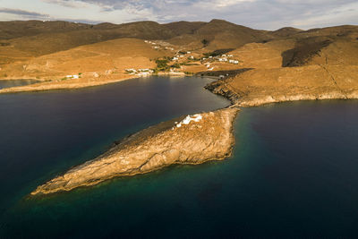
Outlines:
[[[299,32],[232,52],[254,68],[209,85],[241,106],[325,98],[358,98],[357,27]],[[338,33],[339,32],[339,33]],[[314,33],[318,33],[314,36]]]

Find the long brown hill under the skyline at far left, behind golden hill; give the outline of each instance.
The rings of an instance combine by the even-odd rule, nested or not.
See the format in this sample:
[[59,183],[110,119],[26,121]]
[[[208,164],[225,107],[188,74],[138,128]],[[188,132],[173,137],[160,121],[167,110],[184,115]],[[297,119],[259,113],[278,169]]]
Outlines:
[[30,37],[3,40],[0,45],[38,56],[115,38],[166,39],[174,35],[171,30],[157,22],[139,21],[115,26],[102,24],[85,30],[41,33]]

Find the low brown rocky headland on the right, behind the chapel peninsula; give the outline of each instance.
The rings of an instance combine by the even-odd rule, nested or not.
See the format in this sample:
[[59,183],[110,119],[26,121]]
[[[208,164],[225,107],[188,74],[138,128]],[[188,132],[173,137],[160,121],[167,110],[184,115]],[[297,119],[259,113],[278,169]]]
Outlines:
[[255,69],[210,83],[208,90],[238,107],[295,100],[358,98],[357,65]]

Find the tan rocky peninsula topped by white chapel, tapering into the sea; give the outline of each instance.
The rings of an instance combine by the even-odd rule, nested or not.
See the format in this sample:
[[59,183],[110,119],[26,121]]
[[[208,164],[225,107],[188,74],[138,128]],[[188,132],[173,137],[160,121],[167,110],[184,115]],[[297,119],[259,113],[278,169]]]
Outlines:
[[118,142],[98,158],[38,186],[31,194],[70,191],[115,176],[148,173],[172,164],[224,159],[231,155],[234,145],[233,122],[238,110],[228,107],[192,115],[196,120],[189,123],[184,115],[151,126]]

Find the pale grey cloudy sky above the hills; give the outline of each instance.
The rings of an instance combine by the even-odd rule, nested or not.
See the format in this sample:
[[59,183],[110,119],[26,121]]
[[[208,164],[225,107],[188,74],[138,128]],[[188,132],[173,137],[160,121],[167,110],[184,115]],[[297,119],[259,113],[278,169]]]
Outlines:
[[357,0],[0,0],[0,21],[210,21],[251,28],[358,24]]

